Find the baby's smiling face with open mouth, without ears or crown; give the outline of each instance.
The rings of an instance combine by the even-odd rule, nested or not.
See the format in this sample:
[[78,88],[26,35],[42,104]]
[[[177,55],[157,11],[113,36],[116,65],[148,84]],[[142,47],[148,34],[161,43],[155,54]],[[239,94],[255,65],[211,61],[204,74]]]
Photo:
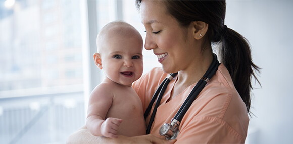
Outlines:
[[136,37],[121,36],[104,42],[100,54],[106,77],[118,84],[131,86],[142,75],[143,43]]

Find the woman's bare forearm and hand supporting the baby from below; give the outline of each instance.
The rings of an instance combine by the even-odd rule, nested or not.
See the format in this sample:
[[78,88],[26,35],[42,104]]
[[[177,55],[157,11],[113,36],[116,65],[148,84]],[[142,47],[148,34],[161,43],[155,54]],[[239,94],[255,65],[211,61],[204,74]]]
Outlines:
[[126,137],[119,135],[118,138],[107,138],[107,137],[96,137],[93,136],[86,126],[83,126],[81,129],[71,134],[66,143],[67,144],[93,144],[93,143],[175,143],[176,140],[165,140],[155,137],[152,134],[142,135],[142,136],[134,136],[134,137]]

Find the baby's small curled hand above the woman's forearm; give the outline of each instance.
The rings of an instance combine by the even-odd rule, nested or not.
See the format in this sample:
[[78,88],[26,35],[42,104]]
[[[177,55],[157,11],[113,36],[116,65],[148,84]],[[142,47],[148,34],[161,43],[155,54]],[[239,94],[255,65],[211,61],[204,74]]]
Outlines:
[[107,118],[101,125],[101,134],[109,138],[117,138],[117,132],[122,119],[118,118]]

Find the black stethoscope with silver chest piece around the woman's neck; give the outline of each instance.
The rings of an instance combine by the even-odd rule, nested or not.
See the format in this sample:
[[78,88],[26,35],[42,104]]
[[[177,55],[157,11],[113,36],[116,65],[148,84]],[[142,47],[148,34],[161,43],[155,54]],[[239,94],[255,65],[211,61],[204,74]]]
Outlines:
[[[162,125],[162,127],[159,130],[160,135],[165,136],[167,140],[175,139],[177,137],[177,135],[179,133],[179,124],[180,124],[183,116],[185,115],[186,111],[188,110],[188,108],[190,107],[192,102],[197,98],[199,93],[206,86],[208,81],[216,73],[216,71],[218,70],[219,65],[220,65],[220,63],[219,63],[219,61],[217,59],[217,55],[213,53],[212,64],[210,65],[210,67],[208,68],[208,70],[206,71],[204,76],[198,81],[196,86],[194,86],[194,88],[192,89],[192,91],[190,92],[188,97],[185,99],[184,103],[181,105],[181,107],[179,108],[179,110],[176,113],[176,115],[174,116],[174,118],[172,118],[171,123],[170,124],[165,123],[165,124]],[[149,115],[149,113],[150,113],[150,111],[152,109],[152,105],[154,104],[155,100],[157,99],[156,104],[154,106],[153,113],[152,113],[151,118],[150,118],[150,122],[148,124],[148,127],[146,128],[146,134],[150,133],[150,130],[151,130],[152,124],[154,122],[158,106],[159,106],[159,104],[161,102],[162,96],[163,96],[163,94],[164,94],[169,82],[177,74],[178,73],[171,73],[170,75],[168,75],[164,79],[164,81],[160,84],[159,88],[156,90],[155,94],[153,95],[149,106],[146,108],[145,113],[144,113],[144,119],[146,119],[146,117]],[[157,98],[157,96],[159,96],[159,97]]]

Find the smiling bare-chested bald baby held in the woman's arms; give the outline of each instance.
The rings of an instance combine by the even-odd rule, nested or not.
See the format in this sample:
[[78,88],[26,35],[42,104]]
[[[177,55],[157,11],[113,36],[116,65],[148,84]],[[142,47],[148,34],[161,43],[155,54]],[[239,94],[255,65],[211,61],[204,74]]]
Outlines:
[[94,62],[106,78],[92,91],[86,126],[94,136],[145,134],[141,101],[131,87],[142,75],[143,41],[138,31],[125,22],[111,22],[97,36]]

